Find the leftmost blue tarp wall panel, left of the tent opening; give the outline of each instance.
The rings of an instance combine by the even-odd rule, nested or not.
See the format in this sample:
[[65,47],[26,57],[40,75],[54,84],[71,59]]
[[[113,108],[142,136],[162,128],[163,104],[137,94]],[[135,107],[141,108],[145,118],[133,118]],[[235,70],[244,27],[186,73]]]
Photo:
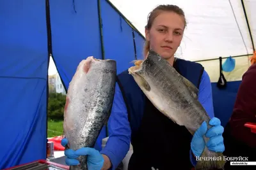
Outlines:
[[0,1],[0,169],[46,154],[45,1]]

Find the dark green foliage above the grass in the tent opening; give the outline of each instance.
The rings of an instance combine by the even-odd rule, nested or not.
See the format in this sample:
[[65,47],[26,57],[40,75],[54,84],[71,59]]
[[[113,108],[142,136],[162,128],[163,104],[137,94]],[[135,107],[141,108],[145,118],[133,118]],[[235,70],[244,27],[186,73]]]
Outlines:
[[63,120],[66,96],[60,93],[49,93],[48,120]]

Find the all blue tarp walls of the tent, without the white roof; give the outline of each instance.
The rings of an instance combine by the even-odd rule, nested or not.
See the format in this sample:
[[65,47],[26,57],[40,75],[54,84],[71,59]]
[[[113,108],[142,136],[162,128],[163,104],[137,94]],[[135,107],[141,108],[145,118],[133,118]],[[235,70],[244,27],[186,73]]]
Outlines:
[[[66,89],[81,60],[91,55],[103,57],[97,5],[96,0],[50,1],[52,56]],[[120,73],[132,66],[131,61],[136,59],[134,49],[138,59],[143,58],[144,38],[132,30],[108,1],[100,1],[100,11],[104,57],[115,59]],[[46,158],[49,55],[45,0],[0,1],[0,23],[3,169]],[[212,83],[215,114],[225,120],[223,124],[230,116],[226,112],[232,112],[238,85],[239,81],[229,82],[229,90],[223,91]],[[223,94],[229,98],[225,99]],[[96,149],[101,149],[101,139],[105,137],[104,127]]]

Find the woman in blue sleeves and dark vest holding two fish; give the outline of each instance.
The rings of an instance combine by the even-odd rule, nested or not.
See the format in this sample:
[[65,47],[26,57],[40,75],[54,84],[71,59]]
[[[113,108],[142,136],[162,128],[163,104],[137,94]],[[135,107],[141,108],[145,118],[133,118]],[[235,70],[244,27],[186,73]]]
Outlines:
[[[212,118],[213,126],[207,131],[202,124],[194,136],[185,127],[174,124],[153,106],[136,85],[132,76],[124,71],[118,75],[115,99],[109,118],[109,139],[106,147],[98,152],[93,148],[81,148],[74,152],[65,151],[68,165],[77,165],[76,157],[88,155],[90,169],[115,169],[129,150],[130,141],[133,154],[129,169],[191,169],[196,156],[205,148],[205,134],[210,138],[206,144],[209,150],[223,152],[223,127],[218,118],[213,118],[211,82],[204,67],[195,62],[175,59],[174,54],[180,46],[186,19],[184,12],[174,5],[157,6],[148,16],[145,27],[145,56],[152,49],[188,78],[199,89],[199,101]],[[193,137],[193,138],[192,138]],[[63,139],[62,145],[67,145]],[[192,166],[192,164],[193,166]]]

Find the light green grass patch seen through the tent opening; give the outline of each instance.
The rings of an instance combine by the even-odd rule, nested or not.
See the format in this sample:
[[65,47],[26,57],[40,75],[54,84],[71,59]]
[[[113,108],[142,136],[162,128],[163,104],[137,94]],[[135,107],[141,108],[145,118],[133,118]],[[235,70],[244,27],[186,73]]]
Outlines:
[[60,136],[63,133],[63,120],[48,120],[47,138]]

